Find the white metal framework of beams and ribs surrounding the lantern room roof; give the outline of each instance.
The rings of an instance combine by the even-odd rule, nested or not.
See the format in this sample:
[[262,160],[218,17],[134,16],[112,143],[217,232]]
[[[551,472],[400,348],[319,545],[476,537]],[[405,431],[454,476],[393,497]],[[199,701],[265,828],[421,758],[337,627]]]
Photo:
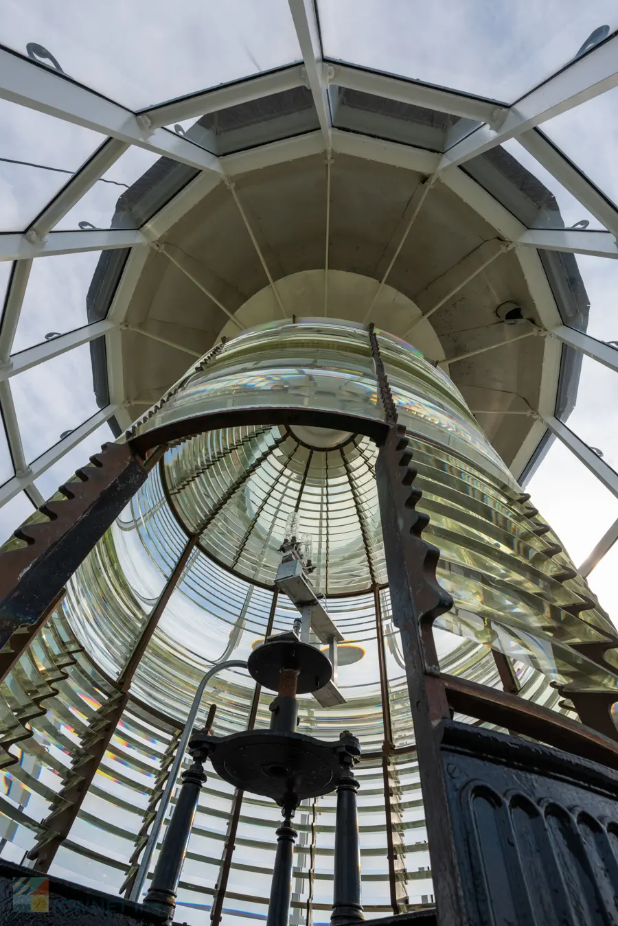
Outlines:
[[[379,73],[371,69],[355,67],[340,61],[329,61],[324,54],[321,39],[320,19],[312,0],[289,0],[290,13],[296,29],[302,62],[290,63],[288,67],[259,73],[257,76],[233,82],[212,90],[176,100],[163,100],[157,106],[142,111],[132,111],[111,102],[105,96],[71,80],[57,69],[47,68],[6,49],[0,48],[0,99],[41,113],[52,115],[77,126],[94,130],[106,140],[93,152],[81,169],[77,170],[64,188],[52,198],[29,228],[13,229],[0,234],[0,262],[13,261],[13,270],[7,286],[4,312],[0,325],[0,411],[6,431],[6,444],[13,466],[13,475],[0,486],[0,504],[19,492],[29,490],[29,497],[41,501],[41,495],[34,486],[34,480],[48,469],[83,437],[93,432],[102,422],[116,416],[120,426],[129,424],[123,408],[125,396],[122,389],[120,363],[120,335],[128,326],[124,324],[135,283],[145,264],[150,247],[158,246],[167,257],[187,274],[195,285],[204,290],[219,305],[222,311],[234,319],[234,313],[225,307],[200,282],[190,268],[185,266],[169,248],[158,245],[158,239],[170,226],[180,219],[196,202],[214,186],[224,182],[236,200],[238,209],[246,224],[253,244],[258,252],[274,297],[284,317],[291,312],[284,307],[268,263],[260,250],[251,221],[242,205],[242,196],[235,190],[232,178],[252,169],[276,165],[298,157],[324,152],[328,186],[326,203],[325,269],[328,268],[329,253],[329,209],[331,158],[338,154],[354,155],[397,167],[421,172],[426,180],[415,194],[407,213],[407,225],[401,229],[399,245],[390,263],[381,269],[378,290],[397,259],[397,254],[410,226],[417,219],[426,195],[431,196],[435,181],[447,184],[464,200],[473,203],[474,208],[497,230],[498,237],[488,242],[473,255],[451,268],[421,294],[419,307],[422,318],[429,318],[452,294],[473,279],[490,261],[506,249],[517,248],[524,274],[535,278],[538,292],[548,291],[547,281],[541,279],[539,264],[530,256],[537,251],[560,251],[575,255],[616,259],[618,245],[618,208],[611,199],[588,181],[585,174],[548,138],[538,131],[554,117],[574,107],[598,98],[618,86],[616,50],[618,36],[610,35],[586,54],[575,56],[564,68],[536,89],[525,94],[512,106],[496,104],[473,94],[462,94],[446,87],[436,87],[423,81],[410,81],[396,75]],[[284,138],[269,144],[259,144],[229,155],[217,156],[199,144],[194,144],[183,133],[164,128],[177,120],[192,119],[204,114],[219,112],[231,106],[240,106],[250,101],[265,99],[271,94],[284,93],[305,86],[309,89],[319,130],[306,131],[295,137]],[[413,144],[389,141],[383,137],[363,134],[359,131],[342,131],[333,124],[333,100],[341,88],[372,97],[393,101],[407,106],[431,109],[435,113],[447,113],[455,117],[446,134],[443,151],[436,152]],[[458,123],[457,119],[460,120]],[[461,121],[465,120],[465,121]],[[472,122],[470,121],[472,120]],[[572,194],[587,213],[598,219],[605,231],[583,230],[582,228],[531,229],[516,219],[511,212],[486,192],[466,170],[473,158],[491,151],[504,142],[515,139],[525,151],[536,158],[542,168]],[[172,162],[185,165],[197,171],[195,178],[170,201],[149,218],[141,229],[87,230],[79,232],[54,231],[69,209],[102,179],[103,175],[132,146],[145,149],[156,156],[164,156]],[[107,318],[80,327],[71,332],[55,332],[43,343],[34,344],[26,350],[11,354],[12,345],[19,325],[21,307],[29,284],[33,260],[42,257],[74,254],[88,251],[104,251],[116,248],[131,249],[124,265],[116,294],[109,308]],[[536,276],[535,276],[536,275]],[[541,274],[542,276],[542,274]],[[328,311],[327,280],[325,274],[324,314]],[[618,351],[611,344],[600,341],[585,332],[574,330],[561,322],[553,303],[547,298],[545,307],[539,298],[539,315],[546,331],[551,335],[546,340],[547,382],[557,375],[560,365],[560,345],[566,344],[574,351],[592,357],[612,371],[618,371]],[[370,309],[371,311],[371,309]],[[369,317],[368,312],[368,317]],[[420,320],[420,319],[417,319]],[[236,322],[242,328],[240,322]],[[416,323],[416,322],[415,322]],[[411,329],[414,327],[412,325]],[[178,347],[187,355],[195,354],[181,344],[152,332],[132,328],[145,337],[154,338],[163,344]],[[514,332],[526,337],[534,332]],[[47,337],[47,335],[45,335]],[[107,347],[107,374],[109,382],[109,404],[94,417],[77,426],[59,443],[49,447],[41,457],[28,461],[24,457],[22,435],[15,410],[11,382],[17,382],[20,374],[32,370],[54,357],[59,357],[85,344],[105,338]],[[460,357],[492,349],[480,348]],[[456,357],[454,359],[460,359]],[[543,389],[541,389],[543,393]],[[541,404],[542,404],[541,399]],[[532,412],[538,412],[533,409]],[[568,446],[587,469],[618,494],[618,475],[563,422],[553,415],[553,409],[542,407],[535,428],[529,438],[530,444],[518,455],[521,471],[527,457],[536,444],[549,430]],[[583,565],[585,572],[594,568],[618,539],[618,521],[599,540]],[[591,538],[593,540],[593,538]]]

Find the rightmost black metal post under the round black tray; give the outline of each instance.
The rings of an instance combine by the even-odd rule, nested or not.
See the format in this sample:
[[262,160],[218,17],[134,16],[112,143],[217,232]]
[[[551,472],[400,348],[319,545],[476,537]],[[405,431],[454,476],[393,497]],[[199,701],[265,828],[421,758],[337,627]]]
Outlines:
[[[350,734],[340,734],[344,740]],[[339,753],[341,775],[337,783],[337,811],[334,825],[334,884],[331,923],[354,923],[364,920],[360,902],[359,820],[356,793],[359,782],[352,767],[354,756],[342,749]]]

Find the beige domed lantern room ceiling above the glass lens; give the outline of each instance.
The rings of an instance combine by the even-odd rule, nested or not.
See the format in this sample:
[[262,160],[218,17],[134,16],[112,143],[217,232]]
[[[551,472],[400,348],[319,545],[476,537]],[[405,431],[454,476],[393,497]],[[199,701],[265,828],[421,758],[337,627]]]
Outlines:
[[[535,424],[529,413],[540,401],[547,350],[542,338],[521,336],[557,315],[540,258],[530,249],[505,252],[500,230],[443,182],[414,217],[419,171],[335,154],[330,179],[328,172],[323,152],[249,170],[234,177],[233,191],[222,182],[210,189],[158,239],[124,323],[178,347],[122,333],[129,417],[183,374],[189,352],[198,356],[221,333],[240,331],[222,307],[246,327],[327,314],[374,321],[441,362],[511,465]],[[520,307],[519,323],[498,318],[505,303]],[[554,375],[549,388],[557,382]]]

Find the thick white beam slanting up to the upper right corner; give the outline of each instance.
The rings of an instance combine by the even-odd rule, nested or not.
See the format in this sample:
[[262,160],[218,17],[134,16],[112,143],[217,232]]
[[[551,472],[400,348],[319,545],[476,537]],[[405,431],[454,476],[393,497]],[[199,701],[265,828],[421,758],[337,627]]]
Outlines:
[[440,170],[463,164],[548,119],[618,86],[618,36],[549,78],[506,110],[498,124],[483,125],[445,152]]

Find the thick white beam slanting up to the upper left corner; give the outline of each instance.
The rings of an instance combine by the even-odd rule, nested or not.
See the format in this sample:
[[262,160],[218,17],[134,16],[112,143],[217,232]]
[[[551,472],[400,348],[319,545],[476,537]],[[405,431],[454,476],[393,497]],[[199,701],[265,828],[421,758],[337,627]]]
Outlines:
[[154,128],[147,116],[135,116],[131,110],[5,49],[0,49],[0,98],[82,125],[120,142],[137,144],[199,170],[221,173],[214,155],[186,141],[182,135]]

